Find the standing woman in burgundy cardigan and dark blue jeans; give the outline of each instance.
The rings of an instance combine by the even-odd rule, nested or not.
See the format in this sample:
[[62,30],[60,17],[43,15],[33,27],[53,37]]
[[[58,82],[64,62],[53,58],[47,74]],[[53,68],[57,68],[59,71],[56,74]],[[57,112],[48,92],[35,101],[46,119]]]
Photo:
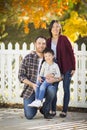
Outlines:
[[[75,57],[68,38],[61,34],[61,24],[57,20],[52,20],[49,27],[50,38],[47,40],[47,47],[53,49],[56,62],[59,65],[61,75],[63,75],[63,109],[60,117],[66,117],[70,100],[70,81],[75,72]],[[52,111],[56,112],[56,101],[53,101]]]

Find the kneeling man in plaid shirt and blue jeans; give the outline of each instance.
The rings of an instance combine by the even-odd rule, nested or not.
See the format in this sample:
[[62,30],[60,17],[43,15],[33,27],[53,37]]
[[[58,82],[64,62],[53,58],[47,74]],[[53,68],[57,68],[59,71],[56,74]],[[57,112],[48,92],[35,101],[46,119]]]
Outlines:
[[[37,108],[29,107],[28,104],[35,100],[36,81],[41,67],[41,62],[43,61],[43,51],[45,48],[46,39],[39,36],[35,40],[35,51],[25,56],[19,68],[18,78],[20,82],[24,83],[24,90],[21,97],[23,97],[24,114],[27,119],[32,119],[37,113]],[[54,82],[54,80],[51,79],[50,82]],[[56,88],[50,85],[46,91],[43,108],[40,110],[40,112],[44,115],[44,118],[52,118],[49,111],[50,104],[53,101],[55,94]]]

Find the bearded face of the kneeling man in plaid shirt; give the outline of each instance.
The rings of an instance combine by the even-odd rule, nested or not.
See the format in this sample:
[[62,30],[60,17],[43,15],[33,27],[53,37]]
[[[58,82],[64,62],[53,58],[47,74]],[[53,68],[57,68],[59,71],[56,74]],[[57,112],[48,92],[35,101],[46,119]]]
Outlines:
[[38,38],[35,42],[36,52],[42,53],[46,48],[46,40],[44,38]]

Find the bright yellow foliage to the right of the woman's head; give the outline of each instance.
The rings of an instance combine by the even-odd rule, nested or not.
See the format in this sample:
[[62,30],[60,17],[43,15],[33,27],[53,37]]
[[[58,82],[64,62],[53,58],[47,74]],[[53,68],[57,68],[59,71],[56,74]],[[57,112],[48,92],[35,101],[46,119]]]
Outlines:
[[79,35],[87,36],[87,21],[85,18],[79,17],[77,12],[73,11],[71,17],[65,21],[63,30],[64,34],[74,42],[78,39]]

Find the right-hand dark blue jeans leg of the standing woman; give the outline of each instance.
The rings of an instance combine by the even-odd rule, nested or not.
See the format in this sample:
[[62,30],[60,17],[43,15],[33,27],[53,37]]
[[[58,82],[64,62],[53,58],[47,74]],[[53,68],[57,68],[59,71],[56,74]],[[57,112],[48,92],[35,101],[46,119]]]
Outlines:
[[63,112],[67,112],[68,104],[70,101],[70,81],[71,81],[71,71],[67,71],[64,74],[63,78],[63,90],[64,90],[64,98],[63,98]]

